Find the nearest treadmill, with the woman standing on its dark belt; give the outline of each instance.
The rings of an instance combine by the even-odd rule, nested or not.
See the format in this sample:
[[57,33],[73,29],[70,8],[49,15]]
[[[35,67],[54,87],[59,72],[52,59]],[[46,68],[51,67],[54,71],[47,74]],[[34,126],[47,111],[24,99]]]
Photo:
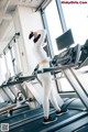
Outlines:
[[[44,74],[47,72],[58,72],[62,69],[80,99],[80,103],[79,103],[80,106],[78,105],[78,108],[79,107],[81,108],[82,106],[84,109],[82,108],[78,109],[76,108],[77,106],[74,109],[72,109],[72,107],[69,108],[69,105],[72,105],[76,100],[75,99],[73,99],[72,101],[68,100],[68,102],[66,102],[68,107],[68,112],[59,114],[57,117],[56,122],[45,125],[42,123],[43,122],[42,108],[37,108],[37,110],[34,109],[32,111],[29,111],[28,116],[26,112],[22,113],[21,116],[24,117],[22,119],[19,117],[16,118],[13,117],[13,119],[15,118],[15,121],[13,119],[10,120],[10,118],[4,121],[1,121],[2,123],[4,122],[9,123],[10,132],[16,132],[16,131],[18,132],[66,132],[66,131],[75,132],[75,131],[79,131],[82,127],[87,125],[88,95],[86,89],[79,81],[79,78],[77,78],[76,73],[74,73],[74,68],[76,68],[76,66],[78,65],[79,54],[80,54],[79,45],[75,47],[70,47],[67,51],[63,52],[63,54],[59,54],[59,56],[57,57],[58,59],[56,59],[56,62],[59,64],[61,61],[62,65],[51,68],[44,68],[43,70],[38,70],[37,74]],[[55,116],[54,109],[51,109],[51,114]]]

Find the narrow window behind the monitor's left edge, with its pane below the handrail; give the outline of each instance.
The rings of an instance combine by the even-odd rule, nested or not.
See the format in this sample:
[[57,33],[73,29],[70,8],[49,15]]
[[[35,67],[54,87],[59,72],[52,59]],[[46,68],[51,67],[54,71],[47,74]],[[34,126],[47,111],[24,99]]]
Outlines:
[[[62,29],[59,15],[58,15],[56,0],[52,0],[52,2],[46,7],[45,16],[46,16],[46,22],[47,22],[47,26],[48,26],[48,31],[50,31],[50,35],[51,35],[54,55],[57,55],[59,53],[59,51],[57,50],[56,37],[58,37],[61,34],[63,34],[63,29]],[[58,80],[57,80],[57,82],[58,82]],[[62,90],[62,91],[73,91],[74,90],[65,77],[61,78],[59,82],[61,82],[59,90]]]

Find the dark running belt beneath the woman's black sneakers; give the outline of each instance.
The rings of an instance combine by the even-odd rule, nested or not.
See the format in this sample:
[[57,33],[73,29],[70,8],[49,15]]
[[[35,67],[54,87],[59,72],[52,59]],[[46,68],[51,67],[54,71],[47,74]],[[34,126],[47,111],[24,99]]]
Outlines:
[[[51,128],[53,125],[55,125],[56,123],[59,123],[62,121],[65,121],[69,118],[72,118],[73,116],[78,114],[79,111],[77,110],[69,110],[67,113],[61,114],[57,117],[57,121],[50,123],[50,124],[43,124],[43,116],[41,118],[37,118],[36,120],[28,120],[26,122],[21,122],[20,124],[14,124],[13,127],[10,128],[10,132],[40,132],[40,131],[44,131],[46,132],[47,128]],[[52,113],[52,116],[55,116],[55,112]],[[54,132],[54,130],[50,131],[50,132]]]

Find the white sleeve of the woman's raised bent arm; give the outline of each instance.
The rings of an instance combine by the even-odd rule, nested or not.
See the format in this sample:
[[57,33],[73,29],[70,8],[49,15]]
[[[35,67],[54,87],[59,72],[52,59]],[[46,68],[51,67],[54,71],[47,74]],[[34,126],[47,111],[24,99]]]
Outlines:
[[46,36],[46,31],[45,30],[40,30],[37,31],[37,34],[41,34],[41,37],[36,42],[37,46],[41,46],[44,43],[45,36]]

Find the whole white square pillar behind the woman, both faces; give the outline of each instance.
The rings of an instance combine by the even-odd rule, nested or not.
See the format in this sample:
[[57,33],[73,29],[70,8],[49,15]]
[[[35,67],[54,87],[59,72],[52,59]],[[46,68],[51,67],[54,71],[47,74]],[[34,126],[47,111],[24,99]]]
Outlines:
[[29,41],[29,34],[32,30],[43,29],[41,14],[26,7],[19,6],[13,14],[13,21],[15,31],[21,33],[18,44],[22,72],[25,75],[31,75],[37,62],[33,54],[33,43]]

